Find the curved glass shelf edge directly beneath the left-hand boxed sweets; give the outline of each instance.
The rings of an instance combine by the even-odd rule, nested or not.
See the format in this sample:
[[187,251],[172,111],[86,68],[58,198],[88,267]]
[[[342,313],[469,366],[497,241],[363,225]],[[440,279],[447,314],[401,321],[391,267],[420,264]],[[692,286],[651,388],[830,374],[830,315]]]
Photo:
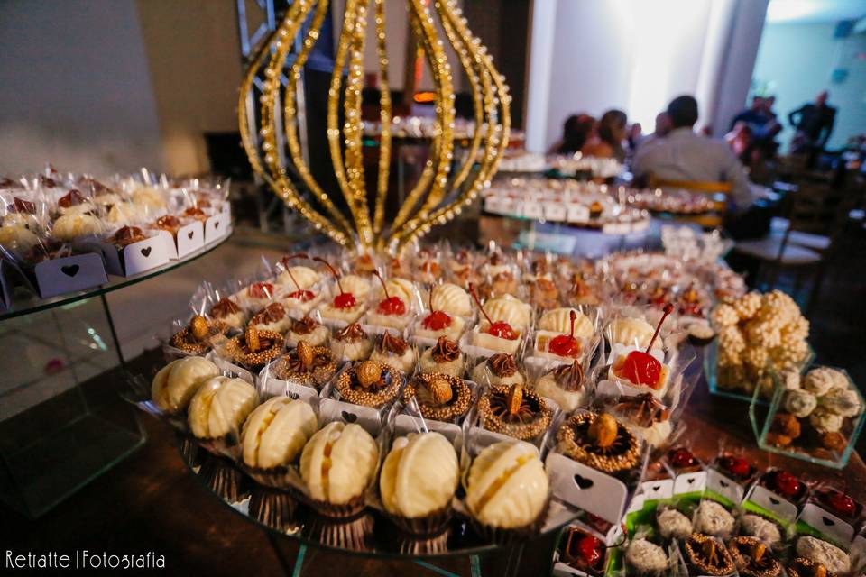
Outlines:
[[41,310],[46,310],[53,307],[60,307],[62,305],[68,305],[69,303],[74,303],[78,300],[84,300],[86,298],[99,297],[115,290],[123,289],[124,287],[129,287],[130,285],[142,282],[143,280],[158,277],[161,274],[182,267],[183,265],[195,261],[198,258],[206,255],[208,252],[213,251],[222,243],[225,243],[231,237],[231,235],[232,231],[230,229],[229,233],[226,234],[225,237],[217,240],[214,243],[207,244],[195,252],[190,252],[189,255],[187,255],[180,261],[170,261],[168,264],[164,264],[161,267],[157,267],[152,270],[145,270],[140,274],[129,277],[110,277],[109,281],[106,282],[106,284],[94,287],[93,289],[78,290],[75,292],[58,295],[57,297],[40,298],[39,295],[34,295],[31,292],[23,289],[23,287],[18,287],[13,293],[12,305],[6,309],[0,309],[0,321],[5,321],[9,318],[15,318],[16,316],[31,315],[32,313],[36,313]]

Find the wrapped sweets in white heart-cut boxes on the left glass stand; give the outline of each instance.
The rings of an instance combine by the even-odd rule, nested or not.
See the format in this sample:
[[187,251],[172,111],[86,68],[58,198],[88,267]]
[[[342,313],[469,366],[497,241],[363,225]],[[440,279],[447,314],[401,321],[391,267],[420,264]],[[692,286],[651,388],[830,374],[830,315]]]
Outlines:
[[232,230],[228,182],[44,172],[0,181],[0,309],[18,285],[52,298],[183,261]]

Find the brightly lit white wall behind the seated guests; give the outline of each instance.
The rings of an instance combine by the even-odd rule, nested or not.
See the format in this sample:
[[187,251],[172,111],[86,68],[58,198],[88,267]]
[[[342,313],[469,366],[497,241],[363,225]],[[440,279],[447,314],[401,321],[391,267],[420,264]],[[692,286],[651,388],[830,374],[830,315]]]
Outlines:
[[[530,114],[528,133],[544,131],[543,150],[560,136],[569,114],[599,116],[610,108],[621,108],[651,132],[655,115],[681,94],[699,97],[707,111],[699,125],[714,125],[713,113],[730,93],[740,104],[745,100],[767,1],[536,0],[533,18],[550,5],[556,17],[547,31],[533,23],[533,52],[539,44],[543,50],[550,35],[554,46],[547,115]],[[532,83],[544,74],[531,74],[528,109],[539,111],[544,106],[533,99],[545,95]],[[530,146],[540,151],[537,140]]]

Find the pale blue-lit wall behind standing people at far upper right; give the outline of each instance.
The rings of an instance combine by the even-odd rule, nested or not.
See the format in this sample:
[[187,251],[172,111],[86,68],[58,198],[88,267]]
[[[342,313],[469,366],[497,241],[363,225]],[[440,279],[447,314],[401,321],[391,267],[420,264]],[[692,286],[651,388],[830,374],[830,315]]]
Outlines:
[[[764,29],[754,79],[776,95],[776,112],[785,118],[779,136],[785,150],[794,133],[788,112],[825,88],[830,104],[838,107],[828,146],[843,146],[852,134],[866,132],[866,59],[855,58],[866,51],[866,34],[838,40],[834,30],[835,23],[770,23]],[[835,66],[849,71],[839,85],[830,81]]]

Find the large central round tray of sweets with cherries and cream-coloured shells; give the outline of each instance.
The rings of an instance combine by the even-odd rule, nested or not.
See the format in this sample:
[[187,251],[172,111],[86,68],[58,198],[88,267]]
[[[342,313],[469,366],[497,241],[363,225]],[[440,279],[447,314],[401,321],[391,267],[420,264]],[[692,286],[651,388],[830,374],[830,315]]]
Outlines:
[[309,543],[449,554],[587,515],[607,541],[699,371],[676,307],[620,303],[600,270],[496,246],[287,254],[202,285],[126,396],[222,499]]

